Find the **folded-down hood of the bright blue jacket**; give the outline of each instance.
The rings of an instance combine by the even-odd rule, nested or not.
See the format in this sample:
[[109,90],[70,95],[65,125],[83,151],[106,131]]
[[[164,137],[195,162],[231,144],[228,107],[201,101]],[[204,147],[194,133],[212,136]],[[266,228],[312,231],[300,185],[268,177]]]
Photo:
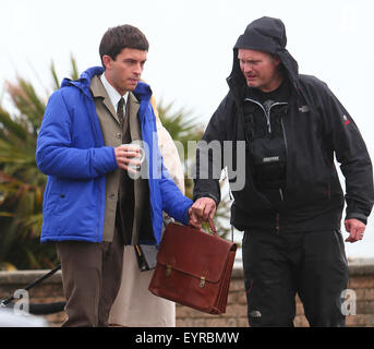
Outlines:
[[[87,96],[91,96],[89,85],[91,81],[95,75],[101,75],[104,73],[102,67],[92,67],[84,71],[79,80],[63,79],[61,87],[64,86],[75,86],[83,91]],[[148,101],[152,96],[152,89],[149,85],[144,82],[138,82],[136,88],[132,92],[135,97],[141,101]]]

